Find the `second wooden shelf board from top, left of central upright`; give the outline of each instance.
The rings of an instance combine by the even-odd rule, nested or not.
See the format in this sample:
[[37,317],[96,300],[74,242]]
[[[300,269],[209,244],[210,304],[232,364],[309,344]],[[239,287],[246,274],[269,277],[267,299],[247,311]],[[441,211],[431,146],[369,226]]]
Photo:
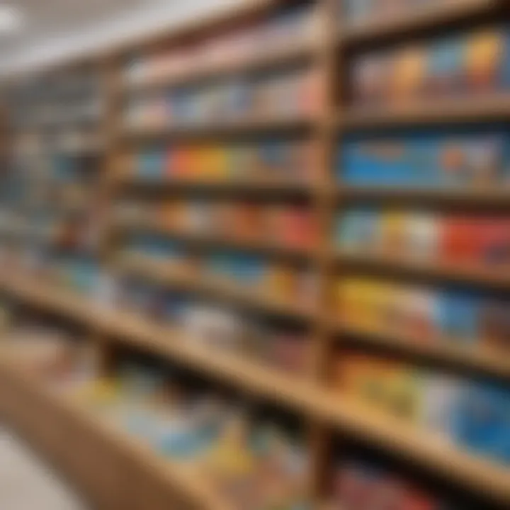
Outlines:
[[250,135],[271,134],[280,132],[302,132],[311,130],[315,120],[312,115],[289,115],[261,117],[246,120],[222,120],[220,122],[204,122],[181,127],[162,128],[124,128],[118,134],[123,140],[143,141],[154,139],[188,139],[188,138],[224,138],[246,137]]

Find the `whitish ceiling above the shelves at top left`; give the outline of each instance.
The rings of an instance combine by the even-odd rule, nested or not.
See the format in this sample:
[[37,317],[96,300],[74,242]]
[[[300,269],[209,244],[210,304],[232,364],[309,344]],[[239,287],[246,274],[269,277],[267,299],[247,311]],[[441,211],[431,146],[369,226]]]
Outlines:
[[95,50],[235,3],[239,0],[0,0],[23,17],[20,30],[0,34],[0,73]]

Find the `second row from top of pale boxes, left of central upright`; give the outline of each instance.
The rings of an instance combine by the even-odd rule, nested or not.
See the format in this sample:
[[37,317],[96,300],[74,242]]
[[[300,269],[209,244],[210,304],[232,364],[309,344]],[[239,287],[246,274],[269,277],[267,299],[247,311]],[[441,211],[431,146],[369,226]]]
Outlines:
[[313,69],[231,79],[152,96],[132,96],[125,110],[129,128],[193,128],[208,124],[310,117],[322,106],[322,81]]

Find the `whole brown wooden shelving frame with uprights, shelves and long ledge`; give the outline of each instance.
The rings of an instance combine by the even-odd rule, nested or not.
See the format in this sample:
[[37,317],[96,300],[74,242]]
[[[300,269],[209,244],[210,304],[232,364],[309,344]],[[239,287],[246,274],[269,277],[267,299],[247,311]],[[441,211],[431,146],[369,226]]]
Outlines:
[[[351,203],[404,203],[426,204],[432,207],[465,207],[482,210],[504,210],[510,207],[510,188],[477,189],[396,189],[396,188],[356,188],[341,185],[334,176],[333,166],[336,145],[344,135],[380,128],[402,128],[404,126],[423,127],[427,125],[458,125],[460,123],[500,123],[510,119],[510,95],[492,94],[476,98],[457,98],[448,101],[433,101],[409,105],[401,108],[360,109],[349,107],[339,101],[339,77],[347,73],[346,60],[351,52],[359,48],[378,45],[380,42],[406,40],[415,35],[422,37],[437,31],[447,31],[453,27],[476,25],[485,21],[498,21],[504,13],[504,2],[497,0],[466,0],[451,2],[446,7],[424,9],[393,21],[381,21],[363,26],[346,26],[339,19],[338,6],[334,0],[310,0],[317,8],[317,35],[314,40],[297,41],[289,47],[275,48],[271,54],[265,52],[247,59],[229,62],[224,65],[201,66],[181,74],[169,74],[152,81],[124,83],[121,63],[132,52],[152,52],[158,48],[179,45],[186,38],[200,40],[217,30],[227,30],[242,26],[249,20],[260,20],[270,15],[285,2],[278,0],[253,1],[231,12],[223,12],[191,26],[161,33],[147,40],[113,48],[106,53],[91,56],[101,64],[105,87],[106,118],[101,122],[101,134],[105,140],[105,158],[102,164],[101,179],[98,183],[98,196],[101,205],[110,211],[120,193],[149,191],[154,193],[200,193],[212,196],[215,193],[228,196],[278,196],[306,198],[310,207],[317,212],[320,220],[319,242],[310,249],[292,249],[274,246],[263,242],[227,239],[210,235],[200,237],[179,231],[167,231],[157,225],[117,224],[106,222],[102,232],[101,249],[98,259],[112,273],[135,275],[158,283],[166,288],[185,290],[199,296],[213,297],[215,300],[234,302],[248,310],[262,312],[269,316],[294,319],[310,328],[312,353],[309,370],[301,377],[280,373],[259,361],[248,359],[240,353],[213,351],[199,346],[188,338],[186,331],[178,327],[164,326],[141,314],[120,310],[108,310],[90,297],[73,290],[59,288],[50,282],[21,276],[21,273],[3,274],[0,277],[0,290],[15,297],[26,305],[62,315],[91,331],[99,339],[100,348],[130,346],[142,352],[152,353],[178,365],[196,371],[204,378],[212,378],[236,388],[246,395],[267,400],[283,409],[297,413],[310,426],[311,451],[311,490],[314,501],[319,506],[324,497],[323,477],[327,464],[329,431],[335,431],[340,438],[366,443],[389,455],[395,455],[413,466],[426,471],[442,482],[452,482],[455,487],[465,487],[484,498],[488,504],[499,504],[506,508],[510,504],[510,471],[489,460],[481,460],[475,454],[462,450],[444,438],[438,438],[429,431],[419,429],[407,422],[381,416],[356,402],[334,394],[327,388],[328,358],[337,344],[348,340],[356,346],[382,347],[389,351],[418,357],[424,363],[440,362],[455,369],[467,369],[475,373],[508,382],[510,362],[502,353],[476,348],[465,348],[448,339],[420,343],[408,339],[395,331],[367,331],[352,324],[346,318],[336,317],[334,303],[331,302],[331,282],[337,276],[347,275],[350,268],[357,273],[377,271],[392,273],[407,278],[426,281],[439,281],[475,285],[486,290],[506,293],[510,290],[510,273],[489,271],[485,268],[467,268],[443,263],[421,263],[403,256],[383,256],[356,254],[336,251],[331,245],[331,232],[336,211]],[[506,16],[506,15],[505,15]],[[200,84],[218,77],[249,76],[258,72],[270,72],[282,66],[305,64],[316,67],[324,81],[324,108],[317,115],[295,115],[293,117],[252,118],[235,122],[203,125],[186,125],[157,129],[130,129],[123,125],[120,103],[129,94],[161,91],[187,84]],[[69,64],[70,67],[73,62]],[[66,69],[64,66],[62,69]],[[61,68],[50,70],[62,72]],[[47,71],[46,71],[47,72]],[[21,79],[22,77],[16,77]],[[11,86],[16,87],[16,79]],[[65,123],[63,123],[65,124]],[[234,140],[239,137],[253,139],[273,135],[297,135],[313,139],[319,147],[320,176],[313,182],[303,181],[255,181],[254,179],[233,180],[176,180],[144,179],[128,169],[119,168],[118,157],[127,148],[145,142],[170,141],[178,143],[195,140]],[[151,196],[152,197],[152,196]],[[108,220],[111,218],[108,217]],[[107,224],[108,223],[108,224]],[[106,225],[107,224],[107,225]],[[285,256],[310,263],[317,273],[319,299],[317,306],[305,307],[295,300],[280,300],[264,293],[263,290],[244,288],[207,274],[183,273],[175,271],[165,263],[149,257],[118,256],[111,246],[111,238],[122,230],[146,229],[149,232],[165,234],[190,244],[221,246],[271,256]],[[17,232],[16,232],[17,233]],[[14,232],[13,232],[14,234]],[[21,235],[21,234],[20,234]],[[115,458],[129,459],[131,471],[123,482],[127,486],[136,485],[137,475],[150,484],[159,480],[159,485],[169,485],[172,494],[184,502],[183,508],[227,509],[227,503],[220,501],[212,487],[204,487],[203,480],[195,472],[181,465],[162,461],[154,453],[140,446],[117,430],[95,419],[71,402],[51,395],[30,378],[25,378],[6,363],[0,363],[0,414],[10,417],[18,426],[26,426],[28,436],[35,443],[44,443],[44,434],[37,433],[36,410],[45,412],[60,426],[74,423],[74,433],[69,433],[74,441],[92,438],[97,444],[109,445]],[[11,387],[11,389],[9,389]],[[14,404],[16,402],[16,404]],[[23,412],[22,404],[38,403],[32,414]],[[47,418],[50,424],[50,418]],[[32,421],[33,424],[29,425]],[[64,424],[64,425],[62,425]],[[41,426],[42,427],[42,426]],[[47,425],[50,428],[50,425]],[[23,428],[23,427],[22,427]],[[88,434],[88,436],[87,436]],[[49,437],[49,436],[48,436]],[[47,448],[56,448],[58,438],[47,443]],[[95,441],[95,442],[94,442]],[[108,448],[106,448],[108,450]],[[109,452],[110,450],[108,450]],[[104,453],[104,455],[108,455]],[[89,459],[88,467],[101,465],[101,455]],[[69,462],[61,460],[64,468]],[[117,464],[118,465],[118,464]],[[84,468],[85,469],[85,468]],[[78,480],[83,480],[84,471],[75,470]],[[123,475],[124,476],[124,475]],[[106,482],[104,482],[106,484]],[[97,484],[96,484],[97,485]],[[96,486],[94,486],[96,487]],[[93,492],[108,492],[106,486],[98,486]],[[111,487],[110,487],[111,489]],[[162,501],[168,492],[154,497],[154,509],[165,508]],[[159,499],[158,499],[159,498]],[[128,499],[126,499],[128,501]],[[112,502],[108,502],[112,504]],[[119,502],[115,502],[119,504]],[[157,506],[159,505],[159,506]],[[133,504],[133,509],[142,506]],[[114,508],[110,506],[110,508]],[[115,508],[120,508],[117,506]],[[131,507],[129,507],[131,508]],[[181,506],[179,506],[181,508]],[[146,510],[146,509],[144,509]],[[147,508],[153,510],[153,507]]]

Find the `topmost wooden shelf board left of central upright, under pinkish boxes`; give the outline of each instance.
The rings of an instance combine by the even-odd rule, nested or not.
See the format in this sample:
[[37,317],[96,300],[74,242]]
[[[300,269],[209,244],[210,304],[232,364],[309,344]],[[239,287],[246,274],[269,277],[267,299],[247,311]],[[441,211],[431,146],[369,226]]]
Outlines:
[[158,89],[171,89],[176,86],[196,84],[200,81],[207,81],[218,77],[229,77],[232,75],[251,74],[280,69],[303,62],[307,62],[314,56],[315,48],[312,43],[303,43],[301,40],[295,44],[285,47],[275,47],[271,53],[264,52],[261,55],[253,55],[244,60],[231,60],[222,64],[197,66],[196,69],[186,69],[181,74],[174,76],[158,77],[151,81],[140,80],[129,83],[123,88],[123,93],[133,94],[137,92],[154,91]]

